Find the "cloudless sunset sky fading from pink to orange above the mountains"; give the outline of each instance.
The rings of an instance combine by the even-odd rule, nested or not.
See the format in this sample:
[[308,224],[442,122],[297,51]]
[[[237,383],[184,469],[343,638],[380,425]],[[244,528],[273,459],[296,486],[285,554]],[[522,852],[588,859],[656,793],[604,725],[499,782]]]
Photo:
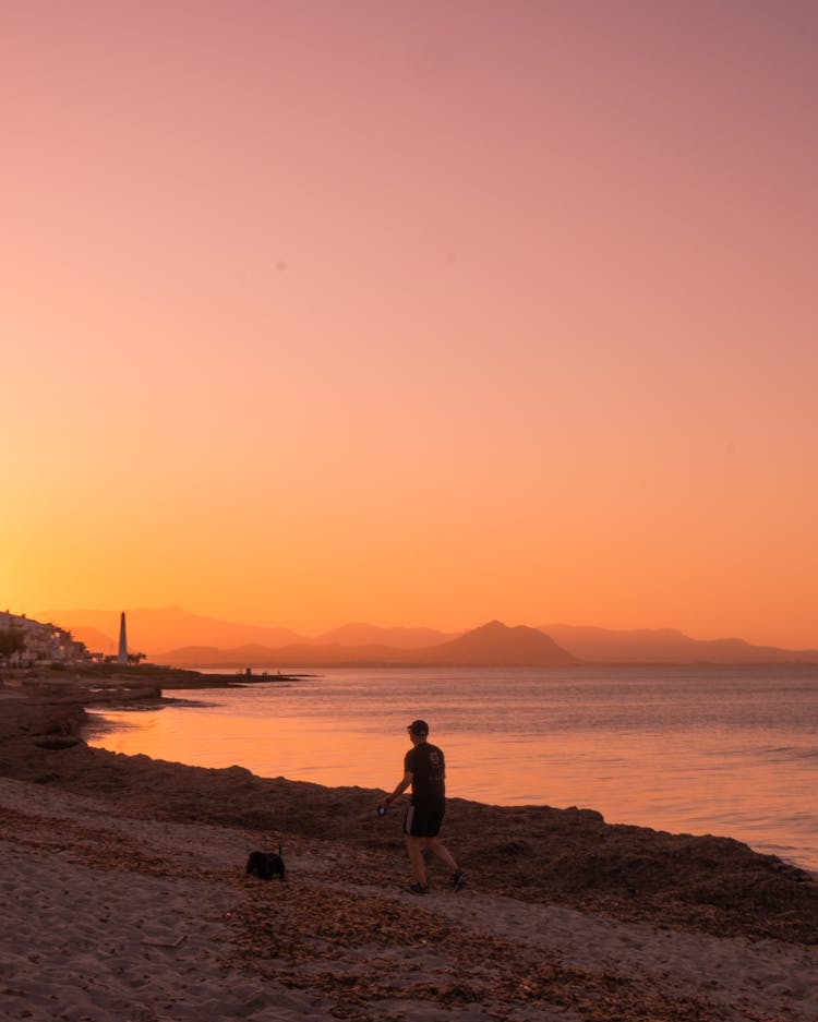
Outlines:
[[811,0],[0,0],[0,603],[818,648]]

